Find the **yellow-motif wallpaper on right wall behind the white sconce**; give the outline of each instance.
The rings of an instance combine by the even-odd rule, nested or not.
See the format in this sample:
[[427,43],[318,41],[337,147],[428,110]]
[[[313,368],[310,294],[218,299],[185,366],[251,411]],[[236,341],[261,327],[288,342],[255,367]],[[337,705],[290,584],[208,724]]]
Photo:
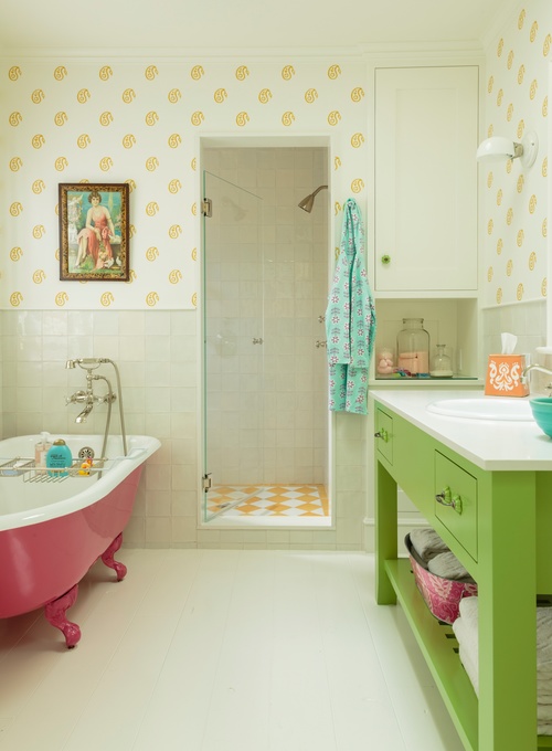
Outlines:
[[519,159],[495,162],[485,176],[482,240],[487,305],[546,296],[548,114],[552,62],[550,0],[521,4],[487,50],[485,136],[521,140],[534,131],[539,154],[531,168]]

